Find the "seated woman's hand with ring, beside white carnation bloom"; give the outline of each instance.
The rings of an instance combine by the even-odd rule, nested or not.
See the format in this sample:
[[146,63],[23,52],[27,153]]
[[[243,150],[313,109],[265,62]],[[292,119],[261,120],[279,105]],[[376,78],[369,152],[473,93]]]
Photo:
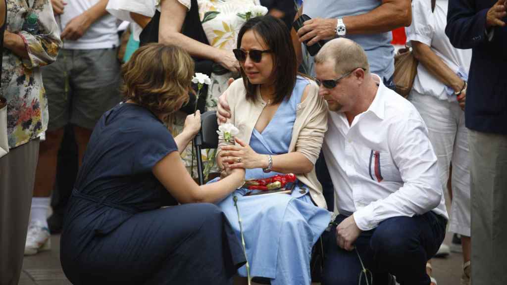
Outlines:
[[244,141],[235,138],[239,146],[224,146],[220,152],[222,163],[226,168],[259,168],[262,167],[263,155],[253,151]]

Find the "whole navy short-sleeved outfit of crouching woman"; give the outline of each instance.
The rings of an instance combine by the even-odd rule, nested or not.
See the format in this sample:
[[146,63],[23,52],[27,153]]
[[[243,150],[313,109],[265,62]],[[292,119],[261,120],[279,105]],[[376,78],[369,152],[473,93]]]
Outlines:
[[207,203],[177,205],[152,173],[174,151],[171,133],[142,106],[122,103],[102,116],[61,236],[71,282],[231,283],[245,259],[223,212]]

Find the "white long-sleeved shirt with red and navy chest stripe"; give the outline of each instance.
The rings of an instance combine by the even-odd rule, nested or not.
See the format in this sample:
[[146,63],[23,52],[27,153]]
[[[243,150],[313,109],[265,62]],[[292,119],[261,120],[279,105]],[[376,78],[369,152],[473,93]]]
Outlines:
[[409,101],[373,77],[377,94],[351,125],[345,114],[329,112],[323,152],[337,209],[353,212],[363,231],[429,210],[448,219],[426,125]]

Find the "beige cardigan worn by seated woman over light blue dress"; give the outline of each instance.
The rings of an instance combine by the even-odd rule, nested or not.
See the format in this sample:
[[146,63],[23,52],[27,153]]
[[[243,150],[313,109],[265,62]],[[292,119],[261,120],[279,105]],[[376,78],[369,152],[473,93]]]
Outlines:
[[[288,151],[300,152],[315,164],[322,147],[324,133],[328,129],[328,107],[322,97],[318,95],[318,86],[315,82],[308,81],[310,83],[309,92],[306,99],[297,106],[296,121]],[[231,118],[228,122],[239,129],[237,137],[248,143],[266,103],[259,90],[257,91],[258,100],[255,103],[247,101],[246,90],[241,78],[234,81],[225,94],[231,107]],[[310,189],[310,195],[315,204],[326,208],[322,186],[317,180],[315,167],[309,173],[296,176]]]

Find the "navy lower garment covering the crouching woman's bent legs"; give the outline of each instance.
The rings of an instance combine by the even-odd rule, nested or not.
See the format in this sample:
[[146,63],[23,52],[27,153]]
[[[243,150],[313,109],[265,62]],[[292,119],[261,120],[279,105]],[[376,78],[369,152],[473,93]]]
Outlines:
[[232,284],[244,254],[228,223],[216,205],[201,203],[138,213],[86,246],[64,232],[62,267],[76,285]]

